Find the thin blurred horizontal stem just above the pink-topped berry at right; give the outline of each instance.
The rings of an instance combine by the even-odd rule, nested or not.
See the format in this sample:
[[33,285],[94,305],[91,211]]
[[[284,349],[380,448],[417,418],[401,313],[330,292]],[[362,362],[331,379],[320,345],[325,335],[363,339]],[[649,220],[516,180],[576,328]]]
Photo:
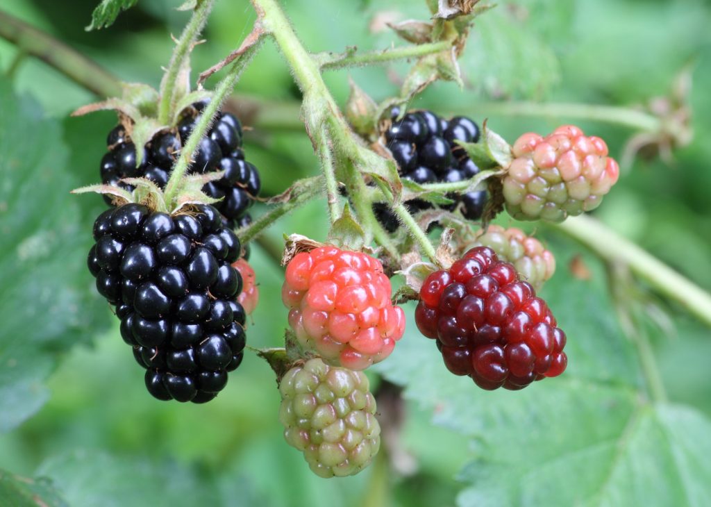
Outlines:
[[588,119],[623,125],[635,130],[659,132],[661,120],[652,114],[629,107],[602,106],[593,104],[565,104],[538,102],[479,102],[477,114],[505,116],[540,116],[555,118]]

